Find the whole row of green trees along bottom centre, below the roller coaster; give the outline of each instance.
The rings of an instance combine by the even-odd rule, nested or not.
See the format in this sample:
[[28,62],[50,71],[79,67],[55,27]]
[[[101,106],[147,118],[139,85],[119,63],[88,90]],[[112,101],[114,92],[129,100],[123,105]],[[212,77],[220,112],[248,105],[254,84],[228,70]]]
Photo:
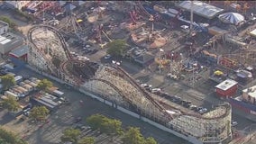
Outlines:
[[[121,121],[109,119],[101,114],[94,114],[88,117],[87,124],[92,130],[99,130],[109,136],[119,135],[122,138],[123,144],[157,144],[157,141],[152,137],[145,139],[139,128],[129,127],[128,130],[123,130]],[[80,134],[80,130],[69,128],[63,131],[63,136],[60,139],[62,142],[73,142],[75,144],[96,143],[94,137],[78,139]]]

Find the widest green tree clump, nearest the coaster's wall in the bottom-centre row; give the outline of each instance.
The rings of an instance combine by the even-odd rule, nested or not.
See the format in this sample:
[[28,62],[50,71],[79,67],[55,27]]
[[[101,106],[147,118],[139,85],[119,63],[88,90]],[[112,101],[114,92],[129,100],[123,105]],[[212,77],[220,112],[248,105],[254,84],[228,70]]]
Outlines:
[[122,122],[109,119],[101,114],[94,114],[87,118],[87,123],[93,129],[99,129],[106,134],[122,134]]

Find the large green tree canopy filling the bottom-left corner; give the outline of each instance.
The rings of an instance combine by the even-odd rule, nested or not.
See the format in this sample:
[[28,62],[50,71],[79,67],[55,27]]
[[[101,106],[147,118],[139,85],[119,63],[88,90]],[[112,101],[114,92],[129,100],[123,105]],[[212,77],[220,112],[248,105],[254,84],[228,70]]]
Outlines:
[[13,132],[0,128],[1,144],[27,144],[23,139],[19,139]]

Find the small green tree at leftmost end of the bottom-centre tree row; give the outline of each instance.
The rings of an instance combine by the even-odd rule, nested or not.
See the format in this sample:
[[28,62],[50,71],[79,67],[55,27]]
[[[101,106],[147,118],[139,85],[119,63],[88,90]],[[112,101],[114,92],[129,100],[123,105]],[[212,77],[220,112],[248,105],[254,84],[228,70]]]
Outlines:
[[63,131],[63,136],[60,137],[62,142],[78,142],[78,136],[81,134],[80,130],[77,129],[66,129]]

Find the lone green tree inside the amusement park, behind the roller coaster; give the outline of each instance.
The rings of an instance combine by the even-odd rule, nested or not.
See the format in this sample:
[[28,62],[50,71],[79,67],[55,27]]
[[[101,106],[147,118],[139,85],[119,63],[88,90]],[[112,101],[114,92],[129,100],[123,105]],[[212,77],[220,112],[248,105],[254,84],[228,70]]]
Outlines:
[[113,40],[109,43],[107,43],[106,47],[107,49],[106,53],[113,55],[113,56],[123,56],[124,50],[127,49],[128,44],[125,40]]

